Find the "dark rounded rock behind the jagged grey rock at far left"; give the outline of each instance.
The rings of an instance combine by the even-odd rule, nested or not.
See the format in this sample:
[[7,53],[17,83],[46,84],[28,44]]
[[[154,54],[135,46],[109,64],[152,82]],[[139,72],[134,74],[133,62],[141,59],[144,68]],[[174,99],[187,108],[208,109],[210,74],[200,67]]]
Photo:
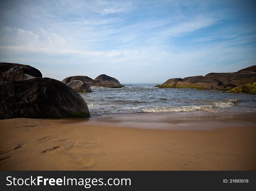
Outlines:
[[6,63],[6,62],[0,63],[0,78],[3,73],[7,72],[9,69],[11,69],[15,66],[22,67],[24,74],[29,74],[30,76],[33,76],[36,78],[42,78],[41,72],[32,66],[24,65],[24,64],[17,64],[17,63]]

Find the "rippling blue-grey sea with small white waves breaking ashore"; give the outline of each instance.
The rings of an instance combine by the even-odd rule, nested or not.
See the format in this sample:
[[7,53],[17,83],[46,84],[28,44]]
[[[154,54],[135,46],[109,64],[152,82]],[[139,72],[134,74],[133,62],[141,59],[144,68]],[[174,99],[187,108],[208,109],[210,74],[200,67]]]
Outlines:
[[256,95],[191,88],[154,88],[157,84],[91,87],[80,93],[91,117],[109,113],[256,111]]

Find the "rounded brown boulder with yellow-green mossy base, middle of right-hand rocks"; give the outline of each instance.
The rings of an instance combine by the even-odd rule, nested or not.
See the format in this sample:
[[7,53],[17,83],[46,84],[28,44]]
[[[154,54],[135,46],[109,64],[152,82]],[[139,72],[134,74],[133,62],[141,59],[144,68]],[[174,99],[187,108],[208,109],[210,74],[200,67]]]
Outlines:
[[205,76],[191,76],[177,82],[177,88],[196,88],[200,90],[211,90],[219,85],[219,82]]

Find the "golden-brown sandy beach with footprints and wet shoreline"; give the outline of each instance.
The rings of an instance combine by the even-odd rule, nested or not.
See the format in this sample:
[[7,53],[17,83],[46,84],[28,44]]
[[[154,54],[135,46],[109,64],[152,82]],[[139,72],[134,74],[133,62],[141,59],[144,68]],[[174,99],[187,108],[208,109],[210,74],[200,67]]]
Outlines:
[[0,170],[256,170],[255,112],[0,120]]

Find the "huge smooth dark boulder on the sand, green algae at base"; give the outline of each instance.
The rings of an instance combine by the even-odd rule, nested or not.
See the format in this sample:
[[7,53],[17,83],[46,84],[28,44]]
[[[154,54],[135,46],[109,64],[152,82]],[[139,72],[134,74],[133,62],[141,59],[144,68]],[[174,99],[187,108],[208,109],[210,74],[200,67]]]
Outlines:
[[33,78],[0,85],[0,119],[89,116],[83,98],[58,80]]

